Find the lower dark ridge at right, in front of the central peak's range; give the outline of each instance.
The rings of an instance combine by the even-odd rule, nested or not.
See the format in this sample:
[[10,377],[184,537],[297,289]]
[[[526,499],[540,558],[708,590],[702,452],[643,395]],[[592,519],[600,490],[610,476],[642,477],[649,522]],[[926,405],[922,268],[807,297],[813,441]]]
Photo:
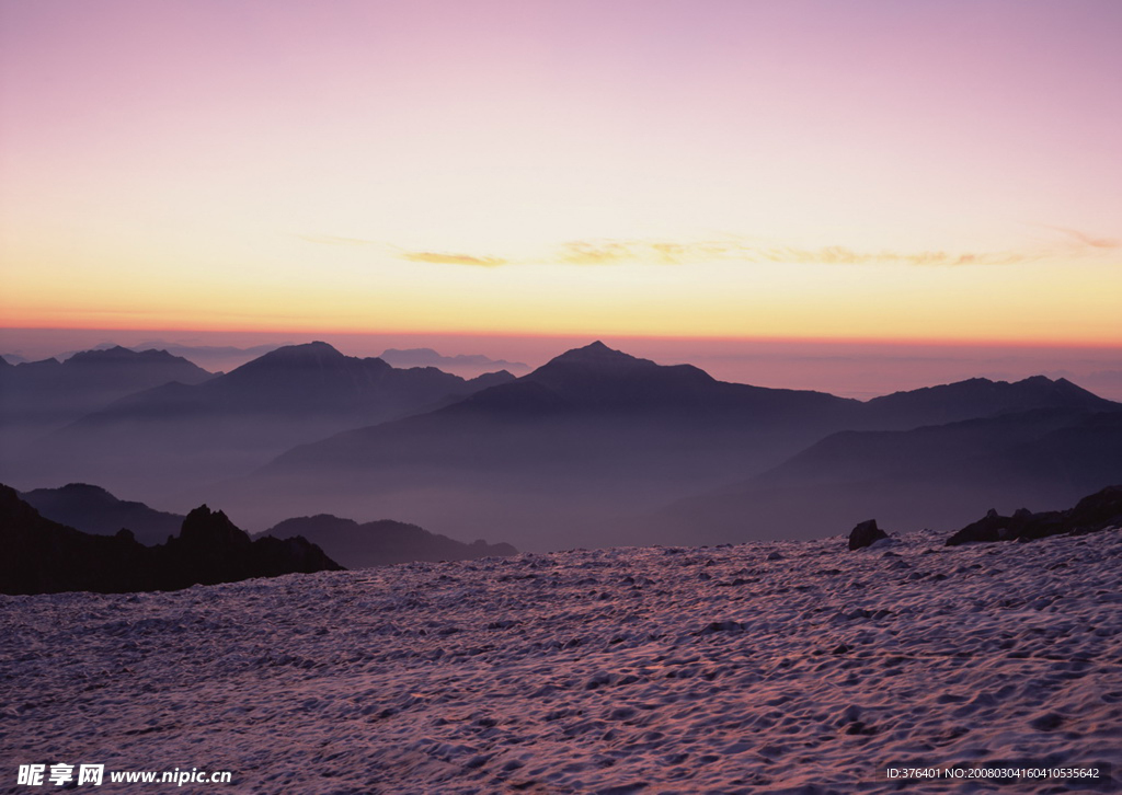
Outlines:
[[[1074,397],[1078,404],[1083,396]],[[1067,503],[1122,481],[1122,412],[1112,406],[837,433],[738,486],[634,520],[632,537],[652,543],[688,535],[711,544],[809,538],[868,516],[891,529],[947,529],[993,506],[1012,511]]]

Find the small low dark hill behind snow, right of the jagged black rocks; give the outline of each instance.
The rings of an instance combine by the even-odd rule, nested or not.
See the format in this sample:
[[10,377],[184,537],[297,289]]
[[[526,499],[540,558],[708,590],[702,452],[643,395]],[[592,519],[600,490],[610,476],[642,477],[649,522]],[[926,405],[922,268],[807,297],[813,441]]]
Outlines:
[[402,521],[383,519],[359,524],[328,514],[285,519],[264,535],[276,538],[303,536],[348,568],[413,561],[471,561],[517,553],[509,544],[488,544],[481,539],[463,544]]

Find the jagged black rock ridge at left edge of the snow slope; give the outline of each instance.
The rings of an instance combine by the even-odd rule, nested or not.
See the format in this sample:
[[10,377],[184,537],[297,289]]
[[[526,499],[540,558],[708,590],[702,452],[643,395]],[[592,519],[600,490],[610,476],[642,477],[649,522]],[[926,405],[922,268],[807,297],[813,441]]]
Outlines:
[[95,536],[45,519],[0,486],[0,593],[172,591],[341,566],[307,540],[249,536],[222,511],[202,506],[180,535],[148,547],[128,530]]

